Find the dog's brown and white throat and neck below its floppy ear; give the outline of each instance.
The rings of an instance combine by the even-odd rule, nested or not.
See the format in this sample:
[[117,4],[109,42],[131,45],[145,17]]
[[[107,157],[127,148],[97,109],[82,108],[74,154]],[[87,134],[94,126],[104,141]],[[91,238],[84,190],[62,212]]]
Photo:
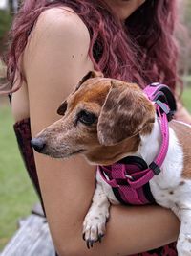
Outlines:
[[135,137],[112,147],[97,147],[86,154],[86,159],[96,165],[111,165],[127,156],[139,156],[149,165],[159,154],[161,145],[161,131],[159,120],[156,116],[155,123],[149,132],[142,132]]

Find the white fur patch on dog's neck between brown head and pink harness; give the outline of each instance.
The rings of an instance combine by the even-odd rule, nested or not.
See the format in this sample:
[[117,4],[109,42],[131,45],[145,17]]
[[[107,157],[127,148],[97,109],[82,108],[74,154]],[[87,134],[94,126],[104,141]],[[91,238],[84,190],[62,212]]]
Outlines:
[[157,116],[151,133],[140,135],[140,139],[141,141],[136,155],[143,158],[149,165],[158,156],[161,145],[161,131]]

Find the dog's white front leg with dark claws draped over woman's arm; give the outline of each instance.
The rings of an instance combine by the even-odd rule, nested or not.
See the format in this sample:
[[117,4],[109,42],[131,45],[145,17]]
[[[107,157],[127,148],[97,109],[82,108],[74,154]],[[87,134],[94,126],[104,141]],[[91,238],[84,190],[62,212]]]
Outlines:
[[105,234],[106,221],[109,218],[110,202],[103,190],[101,181],[96,179],[96,191],[92,205],[83,222],[83,238],[87,247],[93,247]]

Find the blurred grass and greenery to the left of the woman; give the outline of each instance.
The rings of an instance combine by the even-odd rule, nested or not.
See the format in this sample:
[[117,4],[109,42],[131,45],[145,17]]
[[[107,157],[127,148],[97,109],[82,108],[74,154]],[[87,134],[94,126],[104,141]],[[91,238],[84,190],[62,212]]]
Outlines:
[[[0,59],[8,45],[7,35],[19,1],[0,0]],[[0,60],[0,83],[6,68]],[[21,219],[38,201],[17,149],[7,97],[0,96],[0,251],[10,241]]]

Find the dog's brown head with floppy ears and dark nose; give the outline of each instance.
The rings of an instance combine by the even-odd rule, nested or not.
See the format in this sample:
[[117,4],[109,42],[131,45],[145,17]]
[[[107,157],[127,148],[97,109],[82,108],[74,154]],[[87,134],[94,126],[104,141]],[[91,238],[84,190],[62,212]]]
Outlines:
[[140,133],[151,132],[154,105],[137,84],[89,72],[59,106],[63,117],[32,139],[36,151],[55,158],[83,153],[111,164],[138,150]]

